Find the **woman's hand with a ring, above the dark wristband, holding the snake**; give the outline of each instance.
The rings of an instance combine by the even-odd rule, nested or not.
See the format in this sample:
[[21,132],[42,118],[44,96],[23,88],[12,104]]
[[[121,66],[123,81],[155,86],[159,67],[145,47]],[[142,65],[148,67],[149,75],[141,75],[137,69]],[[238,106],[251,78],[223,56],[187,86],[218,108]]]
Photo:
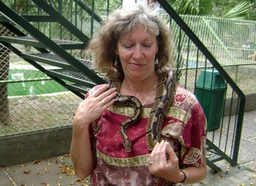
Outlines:
[[179,171],[177,155],[169,142],[156,143],[148,157],[148,169],[155,177],[162,177],[172,183],[178,183],[183,179]]

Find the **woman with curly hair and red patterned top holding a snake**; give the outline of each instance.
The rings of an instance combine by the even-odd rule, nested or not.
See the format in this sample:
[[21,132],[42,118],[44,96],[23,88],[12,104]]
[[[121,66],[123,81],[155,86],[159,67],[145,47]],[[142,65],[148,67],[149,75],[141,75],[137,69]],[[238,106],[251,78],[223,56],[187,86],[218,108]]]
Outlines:
[[[90,42],[96,71],[112,82],[90,90],[73,120],[73,166],[92,185],[197,183],[207,175],[205,115],[195,96],[165,75],[172,75],[171,44],[158,15],[142,5],[118,9]],[[155,107],[166,91],[167,104]]]

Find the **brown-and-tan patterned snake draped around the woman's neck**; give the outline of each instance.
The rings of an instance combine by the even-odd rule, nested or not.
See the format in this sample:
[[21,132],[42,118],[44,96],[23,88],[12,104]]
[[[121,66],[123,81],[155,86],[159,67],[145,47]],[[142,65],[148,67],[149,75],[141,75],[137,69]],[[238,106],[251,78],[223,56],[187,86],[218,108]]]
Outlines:
[[[110,87],[120,87],[120,82],[111,82]],[[172,106],[173,97],[175,94],[176,85],[173,77],[172,70],[168,73],[160,73],[159,84],[156,90],[154,105],[149,113],[147,125],[147,144],[148,150],[152,151],[156,142],[160,142],[160,130],[164,122],[168,109]],[[137,122],[143,113],[143,104],[135,96],[122,96],[118,93],[115,97],[115,105],[121,105],[134,108],[135,112],[131,118],[126,119],[120,125],[120,133],[124,139],[124,147],[126,152],[131,152],[131,140],[126,134],[126,129]]]

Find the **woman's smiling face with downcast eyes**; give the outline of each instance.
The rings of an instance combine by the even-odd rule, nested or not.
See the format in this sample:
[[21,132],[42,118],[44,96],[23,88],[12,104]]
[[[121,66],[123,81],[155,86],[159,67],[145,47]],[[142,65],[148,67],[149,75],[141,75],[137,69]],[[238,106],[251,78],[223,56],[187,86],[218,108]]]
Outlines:
[[143,80],[154,73],[154,59],[158,52],[156,36],[136,26],[131,33],[119,38],[115,54],[125,73],[125,78]]

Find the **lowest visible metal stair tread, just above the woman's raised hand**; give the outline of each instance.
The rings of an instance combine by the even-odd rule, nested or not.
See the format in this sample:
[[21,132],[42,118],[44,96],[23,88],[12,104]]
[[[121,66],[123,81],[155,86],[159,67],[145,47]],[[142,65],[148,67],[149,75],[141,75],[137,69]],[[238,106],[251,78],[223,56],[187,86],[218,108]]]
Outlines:
[[84,73],[64,70],[64,69],[47,69],[45,73],[61,79],[66,79],[67,81],[76,83],[76,84],[83,84],[86,87],[92,88],[96,84],[94,84],[89,78],[87,78]]

